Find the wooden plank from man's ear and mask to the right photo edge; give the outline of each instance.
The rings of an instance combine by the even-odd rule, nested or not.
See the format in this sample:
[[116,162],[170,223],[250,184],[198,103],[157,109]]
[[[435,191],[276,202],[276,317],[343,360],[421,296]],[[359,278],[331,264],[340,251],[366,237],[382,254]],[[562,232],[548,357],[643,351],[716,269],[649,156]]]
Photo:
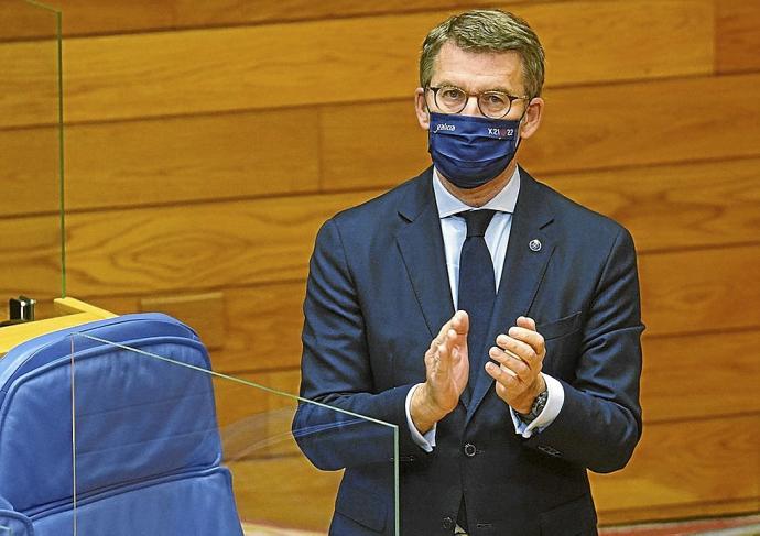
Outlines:
[[[547,92],[545,121],[522,156],[557,172],[757,156],[760,103],[746,96],[758,83],[696,77]],[[732,102],[730,128],[708,95]]]

